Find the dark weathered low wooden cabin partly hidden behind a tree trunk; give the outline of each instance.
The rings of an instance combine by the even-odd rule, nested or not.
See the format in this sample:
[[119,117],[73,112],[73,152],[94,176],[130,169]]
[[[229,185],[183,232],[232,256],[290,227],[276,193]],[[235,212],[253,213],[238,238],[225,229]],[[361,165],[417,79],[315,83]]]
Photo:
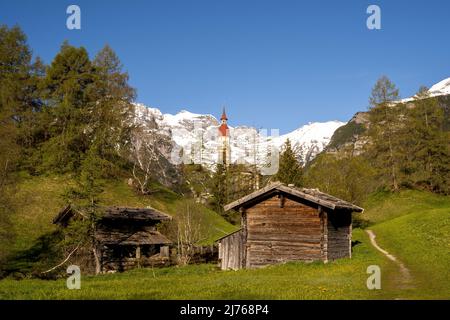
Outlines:
[[[172,218],[153,208],[101,208],[95,222],[93,259],[96,272],[124,271],[134,267],[164,265],[169,260],[171,241],[157,231],[156,225]],[[66,227],[71,219],[83,219],[72,206],[61,210],[54,224]]]

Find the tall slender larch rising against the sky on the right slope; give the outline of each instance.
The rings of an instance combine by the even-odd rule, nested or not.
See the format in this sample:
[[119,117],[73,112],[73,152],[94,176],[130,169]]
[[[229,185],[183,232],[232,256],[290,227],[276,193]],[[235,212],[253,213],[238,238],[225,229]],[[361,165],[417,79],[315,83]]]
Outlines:
[[387,77],[381,77],[370,97],[369,158],[379,169],[394,191],[399,189],[400,144],[398,132],[401,128],[399,106],[394,104],[399,90]]

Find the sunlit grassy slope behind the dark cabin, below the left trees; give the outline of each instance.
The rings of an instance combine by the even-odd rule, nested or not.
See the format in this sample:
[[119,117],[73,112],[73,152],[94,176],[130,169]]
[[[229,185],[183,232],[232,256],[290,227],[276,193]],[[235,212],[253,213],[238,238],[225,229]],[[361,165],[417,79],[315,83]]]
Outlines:
[[[15,242],[12,247],[0,244],[0,250],[18,252],[30,248],[42,235],[55,230],[53,218],[65,205],[62,194],[74,181],[67,176],[27,177],[19,184],[15,196],[18,208],[13,216]],[[105,181],[105,190],[101,195],[102,205],[117,205],[130,207],[152,206],[173,216],[177,208],[188,201],[174,192],[154,186],[159,191],[151,196],[138,196],[120,180]],[[221,216],[206,207],[202,208],[202,223],[210,229],[210,237],[206,242],[212,242],[220,236],[235,230],[235,227]]]

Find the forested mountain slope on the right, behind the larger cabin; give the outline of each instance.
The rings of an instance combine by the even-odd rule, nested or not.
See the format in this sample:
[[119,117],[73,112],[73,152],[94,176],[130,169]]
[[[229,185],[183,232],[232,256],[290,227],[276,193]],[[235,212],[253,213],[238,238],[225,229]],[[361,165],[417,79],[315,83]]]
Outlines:
[[[431,96],[422,87],[408,102],[399,102],[398,97],[395,84],[380,78],[369,99],[369,111],[357,113],[339,128],[326,151],[308,166],[308,183],[357,202],[380,188],[448,195],[448,96]],[[340,164],[333,167],[333,163]],[[334,169],[327,171],[327,167]]]

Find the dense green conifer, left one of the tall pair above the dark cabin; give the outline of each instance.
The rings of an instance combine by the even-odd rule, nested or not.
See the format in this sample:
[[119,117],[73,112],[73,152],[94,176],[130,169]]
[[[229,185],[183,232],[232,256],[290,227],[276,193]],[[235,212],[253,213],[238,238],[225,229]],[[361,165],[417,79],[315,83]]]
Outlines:
[[79,170],[91,141],[94,80],[87,51],[64,43],[43,80],[50,137],[42,148],[44,170]]

